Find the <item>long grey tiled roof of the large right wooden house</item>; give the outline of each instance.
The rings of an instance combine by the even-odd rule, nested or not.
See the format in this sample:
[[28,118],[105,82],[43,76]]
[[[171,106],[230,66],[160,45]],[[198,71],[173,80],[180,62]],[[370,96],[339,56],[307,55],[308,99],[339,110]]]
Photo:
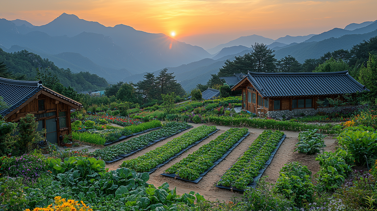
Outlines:
[[339,95],[368,90],[348,71],[322,73],[256,73],[247,79],[263,97]]

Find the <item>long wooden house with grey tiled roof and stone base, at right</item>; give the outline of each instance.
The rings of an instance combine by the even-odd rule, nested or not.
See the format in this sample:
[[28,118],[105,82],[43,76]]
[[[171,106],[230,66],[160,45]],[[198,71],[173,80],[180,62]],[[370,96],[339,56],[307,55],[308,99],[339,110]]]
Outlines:
[[[233,77],[233,78],[231,78]],[[271,117],[315,115],[334,110],[326,98],[345,101],[345,94],[368,91],[348,71],[322,73],[256,73],[223,77],[238,83],[231,90],[242,91],[242,109]],[[317,101],[323,104],[317,104]],[[342,107],[338,108],[342,109]]]

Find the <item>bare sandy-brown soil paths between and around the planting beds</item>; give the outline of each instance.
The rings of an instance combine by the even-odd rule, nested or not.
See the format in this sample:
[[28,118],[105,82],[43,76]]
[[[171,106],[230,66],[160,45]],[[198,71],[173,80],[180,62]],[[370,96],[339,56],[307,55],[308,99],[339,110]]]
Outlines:
[[[199,127],[203,124],[192,124],[195,127]],[[213,125],[213,124],[205,124],[205,125]],[[205,199],[210,199],[212,201],[215,200],[224,200],[228,201],[231,200],[232,197],[240,197],[241,194],[236,192],[231,192],[229,190],[224,190],[221,188],[215,187],[216,183],[220,180],[222,174],[225,173],[228,168],[231,167],[231,165],[234,164],[234,162],[237,161],[238,157],[241,156],[244,151],[250,147],[251,143],[258,137],[259,134],[261,134],[264,129],[259,128],[249,128],[248,131],[251,132],[247,138],[245,138],[236,148],[234,148],[233,151],[231,151],[228,156],[221,161],[215,168],[213,168],[210,172],[205,175],[201,181],[197,184],[191,183],[191,182],[185,182],[182,180],[175,180],[170,177],[165,177],[160,175],[161,173],[164,173],[164,171],[169,168],[171,165],[181,161],[184,157],[187,157],[188,154],[193,153],[193,151],[197,150],[199,147],[201,147],[204,144],[207,144],[211,140],[215,139],[217,136],[221,135],[225,130],[228,130],[230,127],[227,126],[219,126],[216,125],[218,129],[220,129],[217,133],[211,135],[201,143],[195,145],[194,147],[187,150],[185,153],[182,153],[180,156],[176,157],[166,165],[162,166],[152,174],[150,174],[150,179],[148,183],[154,184],[156,187],[160,186],[164,182],[168,182],[170,185],[170,188],[176,187],[176,191],[178,194],[188,193],[190,191],[195,191],[197,193],[202,194]],[[190,128],[189,130],[185,130],[182,133],[179,133],[175,136],[172,136],[168,139],[165,139],[164,141],[158,142],[155,145],[152,145],[150,147],[147,147],[146,149],[139,151],[138,153],[133,154],[130,157],[124,158],[121,161],[114,162],[112,164],[107,164],[106,168],[109,168],[110,170],[115,170],[118,168],[118,166],[121,164],[122,161],[127,159],[132,159],[138,156],[141,156],[145,154],[146,152],[155,149],[156,147],[159,147],[163,144],[166,144],[168,141],[172,140],[175,137],[178,137],[182,135],[183,133],[186,133],[193,128]],[[267,167],[267,169],[264,172],[264,176],[267,177],[268,182],[275,183],[277,178],[279,177],[279,171],[280,168],[284,166],[284,164],[292,161],[298,161],[302,163],[303,165],[307,165],[309,170],[313,172],[313,175],[317,173],[319,170],[319,162],[315,160],[316,155],[305,155],[305,154],[298,154],[293,153],[294,145],[298,142],[298,135],[299,132],[293,132],[293,131],[284,131],[285,135],[287,135],[287,138],[280,146],[279,150],[277,150],[274,159],[272,160],[271,164]],[[325,151],[334,151],[336,147],[336,139],[333,139],[331,137],[325,138],[325,144],[327,145],[324,150]]]

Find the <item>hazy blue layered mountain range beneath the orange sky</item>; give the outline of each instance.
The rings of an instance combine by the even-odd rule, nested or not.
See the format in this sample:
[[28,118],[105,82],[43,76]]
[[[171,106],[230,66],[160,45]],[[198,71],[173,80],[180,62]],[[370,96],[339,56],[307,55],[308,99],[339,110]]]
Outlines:
[[[292,55],[300,63],[319,58],[328,51],[350,49],[377,36],[377,22],[351,23],[344,29],[276,40],[250,35],[204,50],[179,42],[164,34],[137,31],[123,24],[106,27],[63,13],[43,26],[25,20],[0,19],[0,47],[6,52],[28,50],[48,58],[58,67],[72,72],[90,72],[109,83],[143,80],[146,72],[158,73],[168,67],[185,90],[206,83],[226,60],[251,51],[254,43],[275,50],[275,58]],[[155,74],[157,75],[157,74]]]

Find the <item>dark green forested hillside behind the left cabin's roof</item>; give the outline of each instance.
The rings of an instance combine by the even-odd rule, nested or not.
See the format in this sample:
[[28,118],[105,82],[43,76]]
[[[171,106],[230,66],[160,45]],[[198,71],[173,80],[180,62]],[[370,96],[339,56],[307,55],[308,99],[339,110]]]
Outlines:
[[57,67],[52,61],[42,59],[39,55],[26,50],[8,53],[0,48],[0,63],[6,64],[8,72],[11,72],[18,80],[37,80],[37,68],[42,73],[56,75],[63,86],[71,86],[77,91],[104,90],[108,83],[106,79],[89,72],[72,73],[70,69]]

